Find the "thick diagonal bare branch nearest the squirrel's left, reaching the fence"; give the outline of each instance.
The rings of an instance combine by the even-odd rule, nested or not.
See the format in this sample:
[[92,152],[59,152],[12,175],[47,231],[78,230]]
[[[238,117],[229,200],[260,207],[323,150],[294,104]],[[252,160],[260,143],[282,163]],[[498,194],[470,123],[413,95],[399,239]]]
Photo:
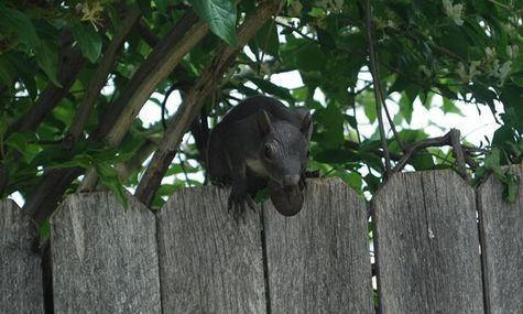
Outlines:
[[197,117],[204,99],[215,90],[224,73],[235,62],[240,50],[249,40],[260,30],[260,28],[273,14],[276,14],[284,4],[283,0],[264,1],[260,4],[257,12],[249,17],[238,31],[238,45],[236,47],[222,46],[214,58],[213,63],[196,85],[188,93],[184,104],[181,106],[174,117],[173,123],[165,132],[159,149],[153,155],[148,170],[137,188],[135,196],[146,206],[149,206],[156,193],[162,177],[168,165],[176,155],[176,149],[187,132],[190,122]]

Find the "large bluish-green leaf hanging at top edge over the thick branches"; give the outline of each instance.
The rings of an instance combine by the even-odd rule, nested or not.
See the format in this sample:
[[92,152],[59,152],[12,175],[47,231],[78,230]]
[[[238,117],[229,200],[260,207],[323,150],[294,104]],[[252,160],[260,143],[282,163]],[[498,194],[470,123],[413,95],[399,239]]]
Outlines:
[[215,35],[231,46],[236,46],[235,0],[188,0],[196,14],[209,24]]

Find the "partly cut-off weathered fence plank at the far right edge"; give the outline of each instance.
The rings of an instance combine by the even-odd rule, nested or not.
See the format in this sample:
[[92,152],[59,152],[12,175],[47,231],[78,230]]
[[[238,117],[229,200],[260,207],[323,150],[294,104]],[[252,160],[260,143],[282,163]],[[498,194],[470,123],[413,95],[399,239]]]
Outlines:
[[[523,166],[514,166],[523,177]],[[491,176],[478,191],[487,313],[523,313],[523,183],[509,204]]]

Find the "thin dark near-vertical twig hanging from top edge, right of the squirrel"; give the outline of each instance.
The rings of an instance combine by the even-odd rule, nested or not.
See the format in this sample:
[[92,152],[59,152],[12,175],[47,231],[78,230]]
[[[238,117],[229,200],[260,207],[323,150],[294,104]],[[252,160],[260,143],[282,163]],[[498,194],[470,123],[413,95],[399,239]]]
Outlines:
[[381,89],[380,71],[378,68],[377,55],[374,51],[374,41],[372,39],[372,21],[371,21],[371,4],[370,0],[366,0],[366,29],[367,29],[367,42],[369,44],[369,58],[370,58],[370,72],[372,74],[372,80],[374,82],[374,98],[375,98],[375,112],[378,117],[378,127],[380,130],[381,145],[385,154],[385,180],[391,175],[391,158],[389,155],[389,144],[385,138],[385,128],[383,124],[383,116],[381,112],[382,100],[384,99]]

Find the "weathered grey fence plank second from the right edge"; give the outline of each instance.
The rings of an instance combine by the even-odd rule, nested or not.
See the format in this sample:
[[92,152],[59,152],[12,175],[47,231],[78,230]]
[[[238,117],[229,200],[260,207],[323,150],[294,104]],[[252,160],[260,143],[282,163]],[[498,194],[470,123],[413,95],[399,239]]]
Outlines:
[[450,171],[396,174],[373,202],[383,313],[482,313],[475,192]]

